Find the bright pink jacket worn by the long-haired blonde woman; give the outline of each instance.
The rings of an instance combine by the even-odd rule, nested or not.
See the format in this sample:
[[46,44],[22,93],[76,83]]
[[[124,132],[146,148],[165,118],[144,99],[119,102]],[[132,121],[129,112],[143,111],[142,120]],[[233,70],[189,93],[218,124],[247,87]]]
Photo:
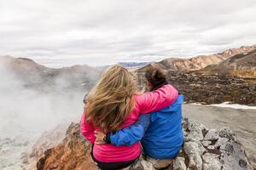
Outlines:
[[[140,114],[149,113],[152,111],[159,111],[171,105],[173,101],[177,99],[177,90],[172,85],[165,85],[162,88],[158,88],[153,92],[148,92],[141,95],[135,95],[135,107],[131,111],[131,114],[125,119],[122,127],[127,127],[137,122]],[[86,111],[84,111],[86,114]],[[99,130],[98,127],[94,127],[92,124],[87,123],[84,120],[84,114],[80,122],[80,130],[86,139],[91,144],[95,142],[95,130]],[[139,142],[131,146],[114,146],[112,144],[95,144],[93,148],[93,156],[96,160],[102,162],[117,162],[117,161],[131,161],[136,159],[141,154],[141,146]]]

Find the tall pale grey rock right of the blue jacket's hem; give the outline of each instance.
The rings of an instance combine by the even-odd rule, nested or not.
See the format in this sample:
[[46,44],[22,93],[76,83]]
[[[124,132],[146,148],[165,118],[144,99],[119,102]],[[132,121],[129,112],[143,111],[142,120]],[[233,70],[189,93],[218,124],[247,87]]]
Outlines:
[[192,169],[201,170],[201,156],[205,151],[203,145],[195,142],[185,142],[183,149],[187,156],[189,156],[189,167]]

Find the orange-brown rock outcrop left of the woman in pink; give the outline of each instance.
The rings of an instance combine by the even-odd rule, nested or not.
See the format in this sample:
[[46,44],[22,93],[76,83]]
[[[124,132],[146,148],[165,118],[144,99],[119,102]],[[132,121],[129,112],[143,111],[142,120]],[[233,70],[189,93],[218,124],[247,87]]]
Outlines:
[[66,138],[61,144],[44,151],[37,161],[38,170],[94,170],[95,163],[90,158],[91,145],[80,136],[79,124],[72,123],[67,128]]

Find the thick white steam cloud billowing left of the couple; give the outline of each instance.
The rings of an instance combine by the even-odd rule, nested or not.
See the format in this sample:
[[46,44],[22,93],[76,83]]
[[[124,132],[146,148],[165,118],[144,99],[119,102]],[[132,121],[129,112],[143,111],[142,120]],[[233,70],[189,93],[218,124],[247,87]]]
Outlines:
[[23,152],[42,133],[64,122],[79,122],[88,90],[65,90],[70,82],[64,77],[52,80],[55,87],[27,88],[1,64],[0,77],[0,169],[20,169]]

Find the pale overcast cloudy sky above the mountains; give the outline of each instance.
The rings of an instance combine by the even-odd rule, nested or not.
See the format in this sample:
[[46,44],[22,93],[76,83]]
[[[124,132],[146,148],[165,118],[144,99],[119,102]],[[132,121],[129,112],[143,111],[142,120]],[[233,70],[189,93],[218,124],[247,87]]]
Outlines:
[[60,67],[256,43],[255,0],[0,0],[0,55]]

